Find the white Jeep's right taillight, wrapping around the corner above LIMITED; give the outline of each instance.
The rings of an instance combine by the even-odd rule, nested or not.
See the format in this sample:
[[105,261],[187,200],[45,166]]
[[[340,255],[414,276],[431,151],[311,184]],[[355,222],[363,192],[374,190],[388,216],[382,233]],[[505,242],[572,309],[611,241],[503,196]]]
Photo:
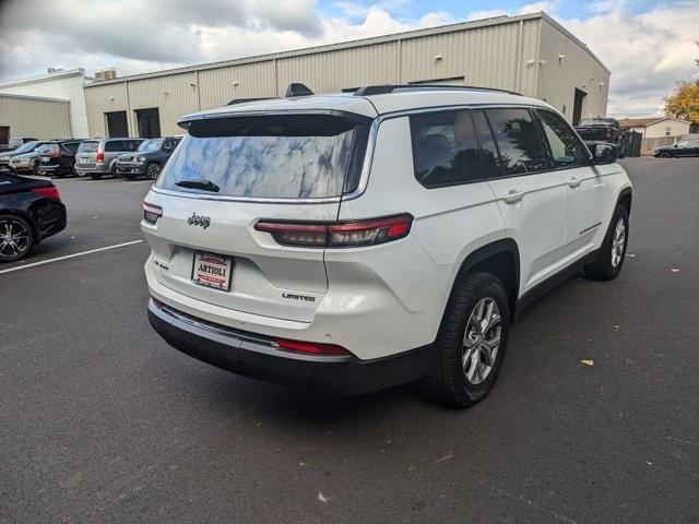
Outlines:
[[350,248],[376,246],[406,237],[413,217],[408,214],[333,224],[260,221],[258,231],[272,235],[282,246]]

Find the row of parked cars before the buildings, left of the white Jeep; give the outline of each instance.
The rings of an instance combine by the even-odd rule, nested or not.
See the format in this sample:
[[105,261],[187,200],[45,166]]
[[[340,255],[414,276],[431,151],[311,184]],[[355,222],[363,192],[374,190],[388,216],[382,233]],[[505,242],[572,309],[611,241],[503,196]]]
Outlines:
[[161,139],[33,140],[0,153],[0,169],[16,174],[155,180],[181,136]]

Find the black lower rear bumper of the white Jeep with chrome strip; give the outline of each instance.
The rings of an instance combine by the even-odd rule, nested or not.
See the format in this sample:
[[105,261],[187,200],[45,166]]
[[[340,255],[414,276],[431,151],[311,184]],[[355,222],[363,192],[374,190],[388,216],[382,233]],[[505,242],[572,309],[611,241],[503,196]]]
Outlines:
[[173,347],[204,362],[268,382],[313,392],[358,395],[424,377],[434,346],[390,357],[315,356],[279,349],[268,337],[194,319],[149,302],[149,321]]

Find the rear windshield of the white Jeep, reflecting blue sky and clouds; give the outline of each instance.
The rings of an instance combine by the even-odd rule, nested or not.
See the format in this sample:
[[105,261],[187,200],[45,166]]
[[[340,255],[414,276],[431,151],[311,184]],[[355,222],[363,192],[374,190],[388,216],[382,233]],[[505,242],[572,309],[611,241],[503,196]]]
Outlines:
[[[167,163],[157,187],[209,180],[216,194],[322,199],[352,191],[358,181],[367,122],[331,115],[284,115],[194,121]],[[347,176],[350,175],[350,176]]]

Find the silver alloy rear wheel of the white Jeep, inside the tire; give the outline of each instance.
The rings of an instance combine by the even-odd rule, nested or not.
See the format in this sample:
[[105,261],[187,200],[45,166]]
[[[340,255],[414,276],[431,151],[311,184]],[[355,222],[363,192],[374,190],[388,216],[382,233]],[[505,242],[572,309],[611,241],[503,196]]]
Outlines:
[[473,308],[463,336],[461,365],[466,380],[481,384],[488,378],[500,347],[502,318],[497,302],[484,298]]

